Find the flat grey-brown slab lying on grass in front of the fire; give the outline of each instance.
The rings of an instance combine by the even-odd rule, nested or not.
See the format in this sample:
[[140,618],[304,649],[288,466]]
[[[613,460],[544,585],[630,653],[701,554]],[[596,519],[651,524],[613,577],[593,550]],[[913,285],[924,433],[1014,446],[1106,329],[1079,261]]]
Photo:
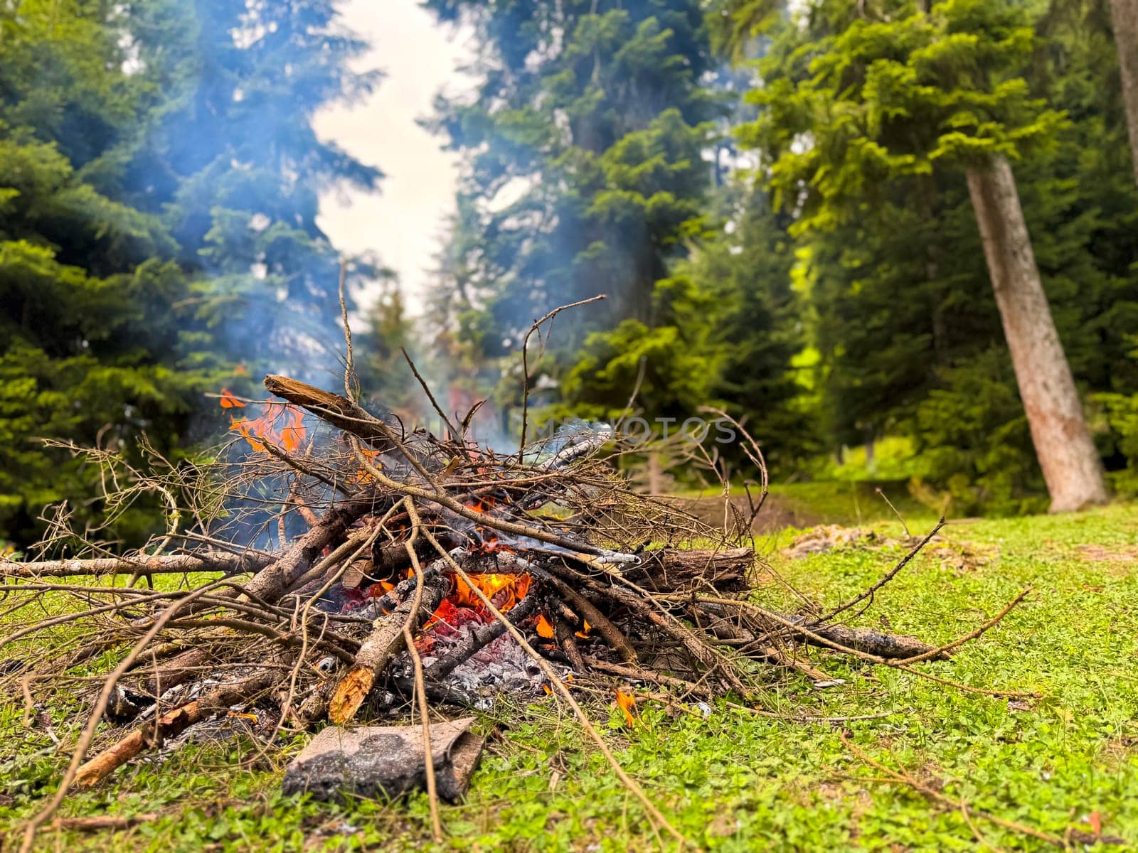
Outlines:
[[[438,795],[457,802],[467,793],[486,738],[470,731],[473,717],[432,723],[431,755]],[[318,800],[345,796],[395,798],[427,787],[421,726],[329,726],[284,770],[286,794]]]

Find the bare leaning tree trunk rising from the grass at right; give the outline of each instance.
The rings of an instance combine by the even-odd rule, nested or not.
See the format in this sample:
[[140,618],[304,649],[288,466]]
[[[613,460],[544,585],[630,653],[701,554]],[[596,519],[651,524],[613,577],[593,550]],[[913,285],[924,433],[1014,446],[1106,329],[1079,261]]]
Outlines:
[[1003,156],[970,168],[968,193],[1004,336],[1052,512],[1106,500],[1103,466],[1047,305],[1012,167]]

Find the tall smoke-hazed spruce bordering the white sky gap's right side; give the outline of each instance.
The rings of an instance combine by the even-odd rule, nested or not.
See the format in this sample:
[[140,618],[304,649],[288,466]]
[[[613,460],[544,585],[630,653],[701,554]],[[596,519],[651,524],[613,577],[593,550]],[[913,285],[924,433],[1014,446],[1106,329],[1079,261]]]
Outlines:
[[[436,122],[465,155],[465,213],[447,264],[461,281],[443,285],[463,303],[452,325],[462,322],[483,357],[496,358],[551,308],[608,293],[607,303],[556,321],[553,346],[562,357],[554,372],[588,334],[615,336],[589,340],[587,364],[570,381],[574,396],[605,354],[658,353],[661,336],[679,341],[675,331],[657,334],[669,304],[657,287],[702,229],[712,176],[702,156],[720,111],[701,85],[715,60],[700,3],[427,7],[443,20],[468,22],[483,44],[477,96],[440,101]],[[626,371],[613,365],[612,373]],[[600,405],[609,392],[595,390]],[[629,382],[621,404],[630,390]]]

